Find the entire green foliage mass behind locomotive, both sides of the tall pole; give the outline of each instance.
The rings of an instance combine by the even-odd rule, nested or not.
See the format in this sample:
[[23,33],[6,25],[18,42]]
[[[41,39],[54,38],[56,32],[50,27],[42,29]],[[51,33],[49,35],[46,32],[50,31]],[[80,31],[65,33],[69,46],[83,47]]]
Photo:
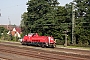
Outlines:
[[[75,31],[78,45],[90,45],[90,1],[74,0]],[[22,36],[28,33],[52,35],[59,39],[57,44],[64,44],[64,31],[68,31],[68,45],[72,35],[72,3],[58,6],[57,0],[30,0],[27,12],[22,15]]]

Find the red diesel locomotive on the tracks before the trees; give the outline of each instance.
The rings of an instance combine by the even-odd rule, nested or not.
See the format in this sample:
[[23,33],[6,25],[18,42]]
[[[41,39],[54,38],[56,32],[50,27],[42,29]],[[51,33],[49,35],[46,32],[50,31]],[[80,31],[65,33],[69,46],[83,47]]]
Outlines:
[[21,41],[22,45],[35,45],[41,47],[56,47],[52,36],[39,36],[37,33],[25,35]]

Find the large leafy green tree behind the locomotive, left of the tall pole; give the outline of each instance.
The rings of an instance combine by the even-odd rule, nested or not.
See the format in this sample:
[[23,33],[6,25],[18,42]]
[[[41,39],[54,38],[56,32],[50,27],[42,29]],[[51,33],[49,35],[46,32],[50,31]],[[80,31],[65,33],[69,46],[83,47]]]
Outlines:
[[25,26],[23,31],[27,31],[27,33],[38,32],[40,35],[52,35],[64,40],[62,32],[69,30],[68,26],[71,20],[68,16],[68,10],[63,6],[58,6],[58,4],[57,0],[28,1],[27,16],[22,15],[24,24],[21,23],[21,25]]

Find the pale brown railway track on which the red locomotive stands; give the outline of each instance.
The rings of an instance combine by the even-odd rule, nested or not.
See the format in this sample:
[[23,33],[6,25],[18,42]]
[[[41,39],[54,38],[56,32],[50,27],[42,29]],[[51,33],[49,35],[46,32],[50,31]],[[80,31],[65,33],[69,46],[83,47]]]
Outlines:
[[[22,46],[20,43],[12,43],[12,42],[3,42],[4,44],[13,44],[13,45],[19,45]],[[29,46],[30,48],[36,48],[35,46]],[[50,50],[50,51],[56,51],[56,52],[67,52],[67,53],[72,53],[72,54],[77,54],[77,55],[90,55],[90,50],[82,50],[82,49],[69,49],[69,48],[41,48],[37,47],[37,49],[42,49],[42,50]]]

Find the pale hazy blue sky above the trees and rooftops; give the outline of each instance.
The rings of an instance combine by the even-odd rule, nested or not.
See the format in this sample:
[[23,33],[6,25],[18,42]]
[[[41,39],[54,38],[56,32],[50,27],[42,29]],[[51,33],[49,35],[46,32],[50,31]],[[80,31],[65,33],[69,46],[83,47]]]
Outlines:
[[[64,6],[73,0],[58,0]],[[27,11],[28,0],[0,0],[0,25],[20,25],[21,15]]]

